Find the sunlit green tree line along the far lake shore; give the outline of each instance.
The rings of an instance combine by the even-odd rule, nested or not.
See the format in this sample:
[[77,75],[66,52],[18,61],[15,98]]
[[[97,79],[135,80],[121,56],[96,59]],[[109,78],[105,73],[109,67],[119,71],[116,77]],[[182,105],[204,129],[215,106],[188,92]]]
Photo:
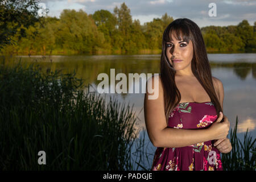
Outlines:
[[[16,26],[16,31],[9,35],[12,43],[5,43],[1,52],[23,55],[159,53],[163,32],[173,20],[165,13],[141,25],[138,19],[132,19],[125,3],[115,6],[114,13],[98,10],[87,14],[66,9],[60,18],[46,16],[29,26],[7,24],[9,30]],[[237,26],[202,27],[201,32],[208,52],[255,52],[255,26],[256,22],[250,26],[247,20],[242,20]]]

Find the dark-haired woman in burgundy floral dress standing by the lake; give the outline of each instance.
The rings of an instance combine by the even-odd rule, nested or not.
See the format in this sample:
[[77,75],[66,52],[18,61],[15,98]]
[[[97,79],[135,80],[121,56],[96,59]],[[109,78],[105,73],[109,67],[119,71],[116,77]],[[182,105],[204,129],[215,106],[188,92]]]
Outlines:
[[[157,83],[156,83],[157,81]],[[220,152],[232,150],[223,117],[224,89],[212,77],[196,23],[176,19],[163,34],[158,98],[144,98],[148,137],[157,147],[151,170],[223,170]],[[147,85],[148,85],[147,82]],[[155,91],[157,92],[157,91]]]

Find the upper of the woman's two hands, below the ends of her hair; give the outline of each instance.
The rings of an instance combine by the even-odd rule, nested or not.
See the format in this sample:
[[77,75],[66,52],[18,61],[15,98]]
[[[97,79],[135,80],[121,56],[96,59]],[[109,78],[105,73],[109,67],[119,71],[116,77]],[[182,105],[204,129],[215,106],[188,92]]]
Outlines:
[[212,135],[212,139],[221,139],[226,138],[229,134],[229,120],[227,117],[224,116],[224,122],[221,122],[223,117],[223,113],[220,112],[217,120],[212,123],[209,127],[210,134]]

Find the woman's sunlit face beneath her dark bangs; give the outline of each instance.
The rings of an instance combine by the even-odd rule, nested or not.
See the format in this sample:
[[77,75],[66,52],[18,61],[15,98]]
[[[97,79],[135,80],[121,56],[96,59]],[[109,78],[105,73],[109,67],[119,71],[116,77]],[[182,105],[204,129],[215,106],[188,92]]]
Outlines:
[[[166,43],[166,56],[175,71],[183,70],[183,72],[191,72],[191,61],[193,59],[193,43],[183,40],[177,40],[173,35],[172,42]],[[181,37],[182,39],[182,37]],[[175,61],[181,60],[181,61]]]

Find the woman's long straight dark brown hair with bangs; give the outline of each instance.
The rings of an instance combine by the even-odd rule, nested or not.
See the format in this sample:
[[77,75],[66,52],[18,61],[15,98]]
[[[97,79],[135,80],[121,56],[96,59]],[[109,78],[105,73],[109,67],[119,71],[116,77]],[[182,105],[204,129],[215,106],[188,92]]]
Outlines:
[[174,110],[181,100],[181,95],[177,89],[174,79],[176,71],[166,56],[166,43],[172,41],[172,34],[177,40],[181,40],[181,36],[183,40],[188,43],[189,40],[192,40],[193,59],[191,62],[191,69],[193,75],[208,93],[211,102],[213,102],[214,106],[216,107],[217,115],[219,115],[219,111],[222,111],[222,108],[214,90],[212,72],[210,71],[210,64],[201,30],[192,20],[187,18],[179,18],[175,19],[167,26],[166,30],[164,30],[162,40],[160,80],[162,81],[164,90],[164,109],[167,125],[170,112]]

